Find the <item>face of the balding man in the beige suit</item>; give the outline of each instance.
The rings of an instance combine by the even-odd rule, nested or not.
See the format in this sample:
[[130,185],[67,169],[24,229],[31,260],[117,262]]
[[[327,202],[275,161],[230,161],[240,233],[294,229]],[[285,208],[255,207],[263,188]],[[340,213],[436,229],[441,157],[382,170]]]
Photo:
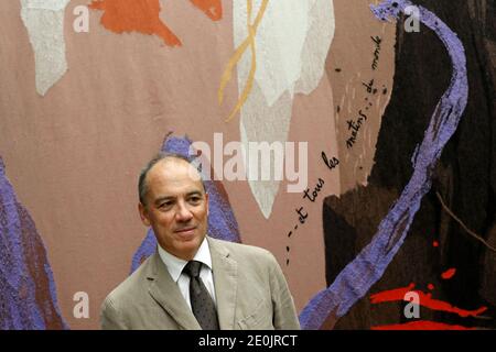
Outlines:
[[141,221],[152,227],[162,249],[192,260],[207,232],[208,195],[198,173],[183,160],[165,158],[148,172],[145,184],[147,204],[139,204]]

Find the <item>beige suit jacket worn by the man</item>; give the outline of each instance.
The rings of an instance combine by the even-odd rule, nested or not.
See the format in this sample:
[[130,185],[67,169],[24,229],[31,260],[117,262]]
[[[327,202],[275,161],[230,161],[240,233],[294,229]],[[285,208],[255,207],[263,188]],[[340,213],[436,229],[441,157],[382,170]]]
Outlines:
[[[208,238],[223,330],[300,329],[293,298],[273,255]],[[101,306],[103,329],[201,329],[158,252]]]

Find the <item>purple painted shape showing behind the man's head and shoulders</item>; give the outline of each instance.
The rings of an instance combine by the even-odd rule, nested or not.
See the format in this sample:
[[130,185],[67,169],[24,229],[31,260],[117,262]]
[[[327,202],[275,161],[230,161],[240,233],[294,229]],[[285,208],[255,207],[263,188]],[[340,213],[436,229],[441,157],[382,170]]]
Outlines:
[[[162,145],[162,152],[181,154],[186,157],[190,155],[192,141],[187,138],[169,136]],[[227,195],[223,196],[222,184],[213,180],[205,180],[205,188],[208,193],[208,234],[215,239],[240,243],[238,222],[236,221],[233,209],[230,208]],[[150,229],[138,251],[132,257],[131,273],[140,264],[154,253],[157,249],[157,239],[153,230]]]

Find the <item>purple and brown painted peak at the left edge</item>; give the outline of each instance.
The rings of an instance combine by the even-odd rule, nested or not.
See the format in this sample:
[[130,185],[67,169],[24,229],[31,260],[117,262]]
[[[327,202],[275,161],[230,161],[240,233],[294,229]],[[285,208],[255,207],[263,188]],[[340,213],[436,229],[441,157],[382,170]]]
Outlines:
[[46,251],[0,157],[0,329],[68,329]]

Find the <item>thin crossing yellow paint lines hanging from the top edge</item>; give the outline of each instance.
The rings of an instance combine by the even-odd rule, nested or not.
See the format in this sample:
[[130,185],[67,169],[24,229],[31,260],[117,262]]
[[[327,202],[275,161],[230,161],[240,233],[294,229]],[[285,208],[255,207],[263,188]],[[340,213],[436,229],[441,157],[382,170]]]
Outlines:
[[254,24],[250,24],[251,12],[252,12],[252,0],[247,0],[248,36],[241,43],[241,45],[238,46],[236,52],[233,54],[233,56],[230,57],[229,62],[226,65],[224,73],[223,73],[223,76],[220,78],[220,87],[218,88],[218,91],[217,91],[219,105],[222,105],[224,101],[224,90],[225,90],[227,84],[233,78],[233,70],[234,70],[235,66],[241,59],[242,54],[245,54],[246,50],[248,48],[248,45],[250,46],[250,52],[251,52],[251,67],[250,67],[250,73],[248,75],[246,86],[242,89],[241,96],[239,97],[238,102],[236,103],[236,107],[233,109],[229,117],[226,119],[226,122],[229,122],[230,120],[233,120],[233,118],[236,116],[236,113],[241,109],[241,107],[245,105],[246,100],[248,99],[251,88],[254,87],[255,72],[257,69],[257,53],[255,50],[255,36],[257,35],[258,25],[260,24],[260,21],[263,18],[263,14],[266,12],[268,3],[269,3],[269,0],[262,1],[261,6],[260,6],[260,10],[257,13],[257,18],[255,19]]

